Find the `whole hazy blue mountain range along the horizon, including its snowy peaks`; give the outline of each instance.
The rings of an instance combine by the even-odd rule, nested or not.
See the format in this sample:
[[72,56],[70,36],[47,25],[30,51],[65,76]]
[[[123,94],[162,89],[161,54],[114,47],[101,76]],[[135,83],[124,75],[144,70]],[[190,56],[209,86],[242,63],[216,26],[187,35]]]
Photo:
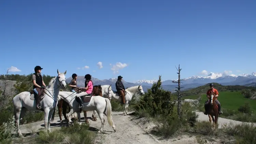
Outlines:
[[[69,83],[72,80],[71,77],[67,78],[67,82]],[[224,75],[221,73],[213,73],[211,72],[208,76],[191,76],[188,78],[183,78],[182,90],[187,90],[191,88],[195,88],[198,86],[202,86],[208,83],[219,83],[222,85],[245,85],[245,86],[255,86],[256,83],[256,73],[253,72],[251,74],[242,74],[242,75]],[[110,78],[109,80],[99,80],[98,78],[92,77],[92,81],[94,85],[112,85],[112,89],[115,90],[115,83],[117,78]],[[173,80],[162,81],[162,88],[165,90],[170,90],[173,92],[173,89],[177,87],[176,83],[172,83]],[[174,80],[177,81],[177,80]],[[84,76],[77,76],[77,86],[84,87]],[[122,79],[124,86],[132,87],[136,85],[142,85],[144,92],[147,91],[148,88],[151,88],[153,83],[156,83],[157,80],[139,80],[137,82],[126,82]]]

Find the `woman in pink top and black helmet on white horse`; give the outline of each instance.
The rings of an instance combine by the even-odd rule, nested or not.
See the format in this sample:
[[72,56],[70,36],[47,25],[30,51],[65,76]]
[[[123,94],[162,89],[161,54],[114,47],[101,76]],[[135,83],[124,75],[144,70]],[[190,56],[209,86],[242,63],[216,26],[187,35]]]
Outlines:
[[89,95],[89,94],[91,94],[93,92],[93,81],[91,81],[91,75],[90,74],[86,74],[84,76],[84,78],[85,78],[85,86],[81,87],[80,89],[86,90],[86,92],[81,92],[81,93],[76,95],[77,99],[79,100],[80,108],[84,107],[83,101],[82,101],[82,99],[80,97],[81,96],[87,96],[87,95]]

